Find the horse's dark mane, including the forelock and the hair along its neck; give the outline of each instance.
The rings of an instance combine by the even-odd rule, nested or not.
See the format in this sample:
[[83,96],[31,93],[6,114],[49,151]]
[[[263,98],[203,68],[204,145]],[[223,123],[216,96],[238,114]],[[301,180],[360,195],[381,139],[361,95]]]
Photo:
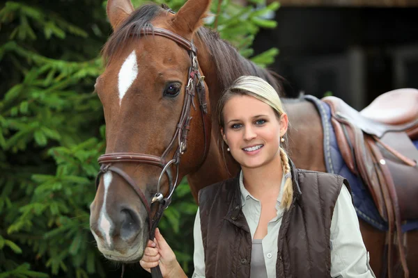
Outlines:
[[[120,46],[126,45],[128,40],[132,40],[132,34],[139,34],[141,28],[145,26],[152,28],[150,22],[162,13],[168,13],[167,8],[155,3],[146,3],[139,9],[134,10],[104,44],[102,57],[109,63]],[[279,95],[284,95],[281,86],[283,78],[279,74],[258,67],[250,60],[242,57],[229,42],[219,38],[215,31],[201,27],[196,35],[203,42],[203,45],[206,45],[212,60],[215,62],[217,78],[222,90],[228,88],[239,76],[254,75],[268,81],[279,92]]]

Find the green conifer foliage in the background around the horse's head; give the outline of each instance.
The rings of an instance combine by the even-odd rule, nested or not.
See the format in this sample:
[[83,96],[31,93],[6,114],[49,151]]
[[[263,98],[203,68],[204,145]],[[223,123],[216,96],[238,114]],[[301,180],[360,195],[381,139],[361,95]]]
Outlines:
[[[168,2],[174,10],[183,3]],[[259,29],[276,24],[263,15],[279,5],[218,4],[212,3],[208,26],[250,57]],[[92,93],[103,70],[98,54],[111,32],[104,7],[102,0],[1,6],[0,278],[109,276],[111,265],[88,227],[97,158],[105,147],[102,106]],[[252,59],[266,66],[277,54],[270,49]],[[186,271],[192,270],[195,213],[183,182],[160,228]]]

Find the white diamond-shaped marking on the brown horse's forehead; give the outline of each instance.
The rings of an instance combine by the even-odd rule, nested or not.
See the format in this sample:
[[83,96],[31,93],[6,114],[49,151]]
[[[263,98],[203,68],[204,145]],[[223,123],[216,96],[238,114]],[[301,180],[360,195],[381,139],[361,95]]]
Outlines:
[[123,97],[125,97],[127,90],[132,83],[134,83],[134,80],[137,79],[137,76],[137,54],[135,54],[135,51],[132,51],[131,54],[127,56],[125,62],[123,62],[118,74],[119,105],[122,104]]

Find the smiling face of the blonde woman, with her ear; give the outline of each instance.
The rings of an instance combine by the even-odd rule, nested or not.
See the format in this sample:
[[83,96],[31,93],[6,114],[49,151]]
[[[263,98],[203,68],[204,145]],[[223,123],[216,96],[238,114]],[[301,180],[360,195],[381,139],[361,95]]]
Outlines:
[[224,106],[224,141],[242,167],[255,168],[279,159],[280,138],[288,118],[278,119],[273,108],[251,96],[235,96]]

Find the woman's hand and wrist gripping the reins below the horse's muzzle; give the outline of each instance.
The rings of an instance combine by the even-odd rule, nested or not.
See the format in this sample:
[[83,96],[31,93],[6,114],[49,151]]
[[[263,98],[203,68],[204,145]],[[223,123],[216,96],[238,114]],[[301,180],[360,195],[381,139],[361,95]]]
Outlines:
[[162,277],[186,277],[171,247],[160,234],[160,230],[155,229],[154,241],[148,240],[144,250],[144,256],[139,261],[142,268],[151,272],[150,268],[160,265]]

